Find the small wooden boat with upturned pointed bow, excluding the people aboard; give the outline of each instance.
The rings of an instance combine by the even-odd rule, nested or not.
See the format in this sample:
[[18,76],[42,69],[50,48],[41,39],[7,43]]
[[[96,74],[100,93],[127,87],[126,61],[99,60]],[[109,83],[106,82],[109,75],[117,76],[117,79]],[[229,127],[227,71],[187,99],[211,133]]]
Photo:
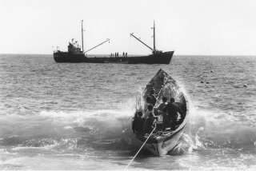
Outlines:
[[162,156],[174,149],[180,142],[182,133],[184,132],[188,121],[189,105],[185,94],[182,93],[182,89],[178,86],[177,82],[166,74],[164,70],[160,69],[146,85],[144,93],[138,97],[138,108],[142,108],[142,105],[144,105],[146,101],[146,97],[149,96],[152,89],[154,89],[155,93],[158,94],[156,106],[162,102],[162,97],[167,97],[167,101],[170,101],[170,97],[173,97],[185,114],[185,116],[177,122],[174,130],[167,129],[162,131],[161,126],[158,126],[162,124],[162,121],[157,121],[156,129],[151,135],[135,131],[134,134],[142,144],[148,139],[145,144],[146,149],[156,156]]

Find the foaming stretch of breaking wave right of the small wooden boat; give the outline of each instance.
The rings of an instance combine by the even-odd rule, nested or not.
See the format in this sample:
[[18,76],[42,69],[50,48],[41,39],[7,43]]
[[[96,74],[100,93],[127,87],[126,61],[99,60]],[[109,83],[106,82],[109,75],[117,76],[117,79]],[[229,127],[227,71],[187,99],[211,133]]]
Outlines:
[[176,152],[256,153],[254,120],[234,113],[190,107],[189,123]]

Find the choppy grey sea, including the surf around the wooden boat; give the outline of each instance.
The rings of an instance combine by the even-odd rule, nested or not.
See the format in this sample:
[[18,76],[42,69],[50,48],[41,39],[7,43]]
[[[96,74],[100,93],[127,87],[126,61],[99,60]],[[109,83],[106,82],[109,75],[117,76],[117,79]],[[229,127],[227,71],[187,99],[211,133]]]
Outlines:
[[136,93],[162,68],[189,97],[180,145],[128,169],[256,169],[256,57],[175,56],[170,65],[55,63],[0,55],[0,169],[125,169],[140,146]]

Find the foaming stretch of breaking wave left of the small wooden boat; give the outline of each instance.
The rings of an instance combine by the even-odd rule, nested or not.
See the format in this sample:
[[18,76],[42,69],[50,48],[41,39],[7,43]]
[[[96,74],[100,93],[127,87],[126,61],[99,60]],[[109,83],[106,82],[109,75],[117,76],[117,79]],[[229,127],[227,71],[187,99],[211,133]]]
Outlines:
[[12,150],[50,149],[83,153],[85,149],[131,149],[134,108],[95,111],[42,111],[15,109],[1,115],[0,145]]

